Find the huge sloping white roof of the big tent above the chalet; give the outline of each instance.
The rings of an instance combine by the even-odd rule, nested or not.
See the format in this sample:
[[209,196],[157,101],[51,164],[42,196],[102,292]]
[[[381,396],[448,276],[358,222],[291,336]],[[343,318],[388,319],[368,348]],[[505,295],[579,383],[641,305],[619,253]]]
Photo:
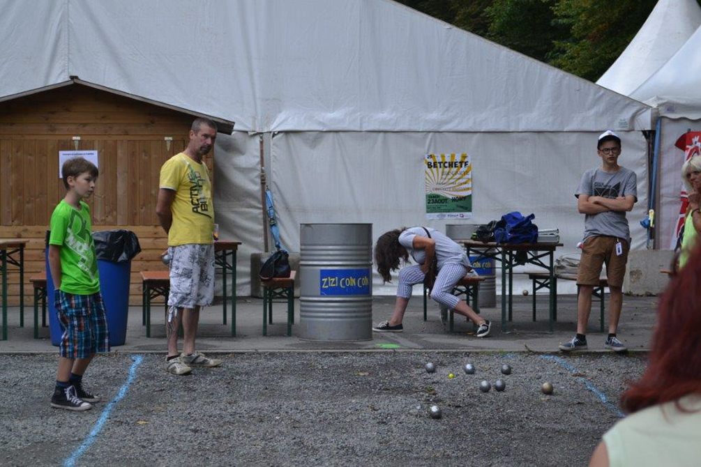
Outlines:
[[0,97],[77,76],[248,131],[651,127],[648,106],[390,0],[0,0],[0,11]]

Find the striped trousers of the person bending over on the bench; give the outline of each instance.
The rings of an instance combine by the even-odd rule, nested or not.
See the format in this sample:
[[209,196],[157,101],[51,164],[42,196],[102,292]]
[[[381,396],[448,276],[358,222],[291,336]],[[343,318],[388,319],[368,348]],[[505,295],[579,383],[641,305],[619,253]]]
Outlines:
[[[449,309],[455,308],[460,299],[453,295],[453,289],[467,273],[468,268],[462,263],[445,263],[438,271],[431,298]],[[423,284],[424,277],[426,274],[421,271],[421,265],[403,267],[399,272],[397,297],[411,298],[411,289],[415,284]]]

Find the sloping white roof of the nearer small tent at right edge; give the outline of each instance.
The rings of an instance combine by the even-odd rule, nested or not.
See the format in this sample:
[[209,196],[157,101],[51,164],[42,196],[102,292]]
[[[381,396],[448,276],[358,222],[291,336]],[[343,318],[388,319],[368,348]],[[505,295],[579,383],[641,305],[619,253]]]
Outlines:
[[669,118],[701,119],[701,27],[631,97]]

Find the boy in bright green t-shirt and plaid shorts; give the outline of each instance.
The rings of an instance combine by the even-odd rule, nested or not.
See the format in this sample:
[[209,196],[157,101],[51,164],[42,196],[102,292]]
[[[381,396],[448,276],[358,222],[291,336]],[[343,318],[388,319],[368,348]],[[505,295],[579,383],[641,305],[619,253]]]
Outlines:
[[67,193],[53,210],[48,240],[54,303],[63,331],[51,407],[88,410],[100,398],[83,389],[83,373],[95,352],[109,351],[90,207],[83,202],[95,191],[98,172],[83,158],[67,160],[62,172]]

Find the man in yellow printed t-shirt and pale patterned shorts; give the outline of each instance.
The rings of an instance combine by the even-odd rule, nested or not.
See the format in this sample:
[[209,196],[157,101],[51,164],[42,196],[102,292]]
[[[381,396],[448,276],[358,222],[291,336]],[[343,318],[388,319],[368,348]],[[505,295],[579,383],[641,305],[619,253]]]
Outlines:
[[[215,295],[215,211],[210,174],[202,158],[212,150],[216,138],[217,125],[207,118],[197,118],[185,150],[161,167],[156,214],[168,234],[170,294],[165,368],[173,375],[187,375],[192,367],[222,364],[195,351],[200,307],[212,305]],[[182,354],[177,349],[180,323],[184,328]]]

